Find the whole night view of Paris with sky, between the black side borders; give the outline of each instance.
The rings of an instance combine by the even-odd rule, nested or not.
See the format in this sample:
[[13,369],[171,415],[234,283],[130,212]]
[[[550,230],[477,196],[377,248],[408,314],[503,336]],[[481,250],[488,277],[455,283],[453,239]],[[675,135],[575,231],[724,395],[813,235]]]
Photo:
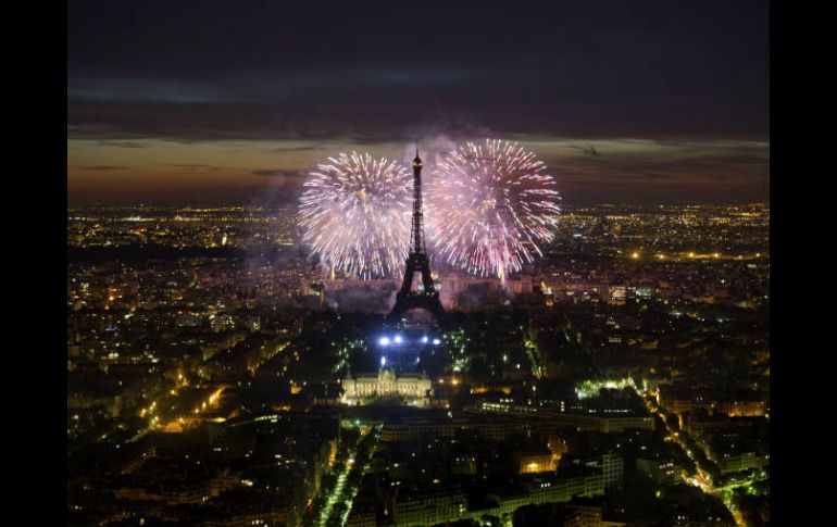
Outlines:
[[558,4],[68,5],[67,525],[770,525],[767,3]]

